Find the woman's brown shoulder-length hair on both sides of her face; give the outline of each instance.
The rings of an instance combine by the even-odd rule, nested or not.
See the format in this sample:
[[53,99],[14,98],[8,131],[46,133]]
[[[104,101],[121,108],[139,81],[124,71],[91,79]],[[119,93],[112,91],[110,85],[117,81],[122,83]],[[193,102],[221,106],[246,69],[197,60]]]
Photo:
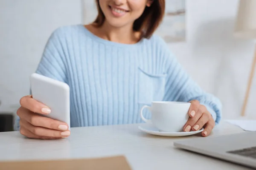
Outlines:
[[[99,6],[99,0],[96,0],[98,16],[93,24],[97,27],[103,25],[105,16]],[[150,7],[145,7],[143,14],[134,21],[133,30],[140,31],[140,40],[150,38],[163,20],[165,12],[165,0],[152,0]]]

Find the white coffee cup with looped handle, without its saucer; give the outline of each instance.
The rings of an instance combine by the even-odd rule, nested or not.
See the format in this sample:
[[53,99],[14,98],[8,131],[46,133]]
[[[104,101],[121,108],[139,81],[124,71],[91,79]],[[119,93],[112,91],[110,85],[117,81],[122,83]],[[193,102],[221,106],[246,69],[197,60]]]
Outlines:
[[[189,119],[189,102],[152,102],[151,107],[144,105],[140,109],[140,117],[144,122],[151,122],[162,132],[182,132]],[[145,119],[143,109],[148,108],[151,119]]]

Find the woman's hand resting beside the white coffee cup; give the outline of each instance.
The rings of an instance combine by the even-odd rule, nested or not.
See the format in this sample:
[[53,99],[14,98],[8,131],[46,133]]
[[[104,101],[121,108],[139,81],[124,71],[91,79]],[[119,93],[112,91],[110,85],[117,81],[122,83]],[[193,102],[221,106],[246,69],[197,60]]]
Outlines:
[[183,130],[189,132],[190,130],[196,131],[204,127],[202,136],[208,136],[215,126],[211,113],[198,100],[192,100],[190,103],[189,120],[186,122]]

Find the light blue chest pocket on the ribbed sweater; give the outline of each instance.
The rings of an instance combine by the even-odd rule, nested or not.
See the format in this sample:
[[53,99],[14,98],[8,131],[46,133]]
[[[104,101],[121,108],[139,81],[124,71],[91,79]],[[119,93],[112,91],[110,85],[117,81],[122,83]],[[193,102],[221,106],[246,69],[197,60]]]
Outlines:
[[165,94],[166,74],[150,74],[138,68],[138,103],[151,105],[153,101],[162,101]]

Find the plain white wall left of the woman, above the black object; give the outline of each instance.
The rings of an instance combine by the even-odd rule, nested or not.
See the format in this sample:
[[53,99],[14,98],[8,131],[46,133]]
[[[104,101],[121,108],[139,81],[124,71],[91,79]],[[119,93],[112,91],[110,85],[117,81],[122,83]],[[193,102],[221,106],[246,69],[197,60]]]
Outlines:
[[82,23],[81,0],[0,0],[0,111],[29,94],[29,75],[55,28]]

